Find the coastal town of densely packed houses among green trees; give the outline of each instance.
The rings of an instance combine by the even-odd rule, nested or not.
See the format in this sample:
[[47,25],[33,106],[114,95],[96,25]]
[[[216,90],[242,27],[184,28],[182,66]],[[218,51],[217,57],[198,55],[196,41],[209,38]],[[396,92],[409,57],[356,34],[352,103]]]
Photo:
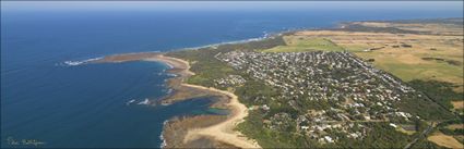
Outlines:
[[[397,123],[420,119],[397,107],[403,99],[425,98],[419,91],[348,52],[231,51],[215,58],[279,90],[277,97],[257,100],[284,101],[295,112],[270,112],[273,105],[264,101],[250,108],[264,111],[265,127],[273,131],[294,131],[331,144],[340,134],[352,139],[367,136],[369,127],[359,122],[386,122],[397,127]],[[217,83],[233,86],[243,82],[234,75]]]

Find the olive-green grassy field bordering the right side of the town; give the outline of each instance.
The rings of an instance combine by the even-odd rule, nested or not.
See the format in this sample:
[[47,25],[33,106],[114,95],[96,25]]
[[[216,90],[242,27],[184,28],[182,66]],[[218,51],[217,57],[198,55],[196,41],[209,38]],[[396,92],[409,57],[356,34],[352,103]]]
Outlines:
[[[373,51],[373,52],[354,52],[362,59],[373,59],[376,67],[386,71],[404,82],[413,79],[439,80],[452,83],[457,86],[463,85],[462,65],[451,65],[439,61],[425,61],[420,58],[428,57],[423,53],[407,51]],[[441,57],[452,60],[449,57]],[[462,87],[455,91],[462,92]]]

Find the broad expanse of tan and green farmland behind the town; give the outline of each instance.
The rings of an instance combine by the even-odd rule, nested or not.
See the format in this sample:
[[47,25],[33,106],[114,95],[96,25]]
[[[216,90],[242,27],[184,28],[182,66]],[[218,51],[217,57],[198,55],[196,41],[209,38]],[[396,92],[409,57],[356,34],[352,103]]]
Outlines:
[[[342,30],[305,30],[294,36],[330,39],[362,59],[374,59],[373,65],[405,82],[412,79],[448,82],[461,86],[456,90],[462,90],[464,84],[463,36]],[[454,61],[456,64],[424,58],[443,59]]]

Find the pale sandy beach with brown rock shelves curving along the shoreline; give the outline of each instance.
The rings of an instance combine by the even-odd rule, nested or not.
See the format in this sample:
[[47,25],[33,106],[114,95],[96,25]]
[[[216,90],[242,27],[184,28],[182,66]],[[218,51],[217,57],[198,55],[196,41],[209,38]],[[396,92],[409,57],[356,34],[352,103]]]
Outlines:
[[[126,61],[158,61],[170,66],[170,70],[168,70],[169,73],[176,74],[177,76],[168,80],[169,88],[172,88],[175,91],[174,94],[163,99],[163,102],[166,104],[191,99],[198,96],[221,96],[227,98],[227,102],[224,103],[224,107],[229,109],[230,113],[227,115],[225,121],[209,125],[206,127],[189,128],[187,133],[185,133],[183,138],[176,137],[176,139],[182,139],[181,142],[188,145],[190,141],[206,137],[212,138],[215,141],[234,145],[238,148],[261,148],[254,140],[251,140],[245,137],[241,133],[234,131],[237,124],[242,122],[243,119],[248,116],[247,107],[238,101],[238,97],[236,95],[216,88],[186,84],[183,82],[186,78],[194,75],[194,73],[189,70],[189,62],[177,58],[165,57],[162,53],[117,54],[106,57],[95,62]],[[166,147],[169,147],[169,141],[167,141]]]

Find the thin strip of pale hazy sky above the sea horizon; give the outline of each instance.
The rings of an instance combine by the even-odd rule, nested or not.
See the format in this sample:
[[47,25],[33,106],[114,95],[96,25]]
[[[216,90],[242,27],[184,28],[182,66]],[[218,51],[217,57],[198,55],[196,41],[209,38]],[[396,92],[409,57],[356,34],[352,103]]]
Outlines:
[[1,1],[2,11],[216,10],[298,9],[463,10],[463,1]]

